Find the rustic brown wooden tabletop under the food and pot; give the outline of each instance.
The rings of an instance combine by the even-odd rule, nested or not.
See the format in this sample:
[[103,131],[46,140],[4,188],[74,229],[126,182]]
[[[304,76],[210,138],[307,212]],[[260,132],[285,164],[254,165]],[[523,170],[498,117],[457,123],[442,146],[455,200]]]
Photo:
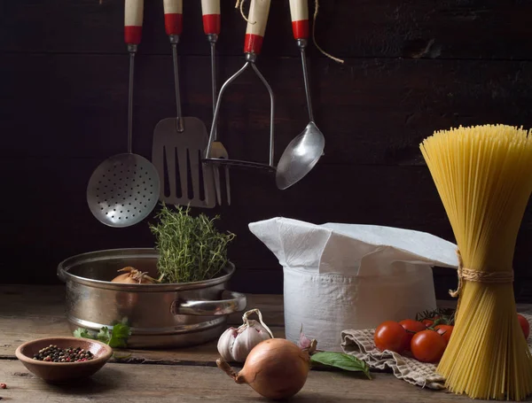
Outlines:
[[[33,376],[15,358],[18,345],[37,337],[70,336],[64,315],[63,286],[0,286],[0,399],[17,402],[76,403],[267,401],[249,386],[235,384],[215,367],[215,342],[176,350],[130,350],[126,362],[110,360],[88,379],[52,385]],[[283,337],[283,301],[280,295],[249,295],[248,306],[258,307],[274,334]],[[231,316],[241,323],[241,314]],[[445,391],[424,390],[387,373],[373,379],[342,372],[310,371],[293,401],[408,401],[469,400]]]

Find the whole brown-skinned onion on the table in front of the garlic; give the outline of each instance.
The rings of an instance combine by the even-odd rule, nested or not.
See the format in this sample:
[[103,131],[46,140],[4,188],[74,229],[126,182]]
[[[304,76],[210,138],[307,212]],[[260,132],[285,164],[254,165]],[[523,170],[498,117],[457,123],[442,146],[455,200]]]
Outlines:
[[287,399],[307,382],[310,357],[309,351],[285,338],[270,338],[254,346],[238,374],[223,359],[216,365],[237,384],[248,384],[265,398]]

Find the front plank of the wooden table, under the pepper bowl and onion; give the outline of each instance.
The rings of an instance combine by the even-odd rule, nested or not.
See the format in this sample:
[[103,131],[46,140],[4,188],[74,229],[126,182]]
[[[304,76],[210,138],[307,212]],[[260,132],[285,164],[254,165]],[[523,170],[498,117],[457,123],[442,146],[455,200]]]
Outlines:
[[[124,402],[266,402],[248,385],[235,384],[218,368],[200,366],[135,365],[108,363],[81,383],[45,384],[16,360],[0,360],[0,382],[8,389],[0,397],[13,402],[78,403]],[[310,371],[307,383],[294,402],[366,403],[403,401],[446,403],[470,401],[443,391],[424,390],[399,381],[390,374],[362,376],[339,372]]]

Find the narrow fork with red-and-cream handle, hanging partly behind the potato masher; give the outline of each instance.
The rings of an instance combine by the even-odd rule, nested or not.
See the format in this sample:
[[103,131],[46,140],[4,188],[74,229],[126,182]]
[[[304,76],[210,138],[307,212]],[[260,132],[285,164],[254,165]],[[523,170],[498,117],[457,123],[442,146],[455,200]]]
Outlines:
[[[216,110],[216,41],[220,35],[221,16],[220,16],[220,0],[201,0],[201,13],[203,16],[203,31],[207,35],[207,41],[211,47],[211,82],[213,87],[213,116]],[[223,143],[218,141],[218,128],[215,128],[215,141],[213,142],[210,156],[215,159],[229,159],[229,154]],[[215,177],[216,201],[218,205],[222,205],[222,190],[220,184],[220,170],[217,166],[213,166],[213,174]],[[224,173],[225,181],[225,195],[227,204],[231,205],[231,186],[229,179],[229,167],[225,167]]]

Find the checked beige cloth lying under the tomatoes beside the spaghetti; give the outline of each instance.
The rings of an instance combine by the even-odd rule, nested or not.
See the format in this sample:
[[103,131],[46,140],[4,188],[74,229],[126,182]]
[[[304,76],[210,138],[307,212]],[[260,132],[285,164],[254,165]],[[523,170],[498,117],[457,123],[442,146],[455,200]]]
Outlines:
[[[532,314],[522,314],[532,328]],[[445,379],[436,373],[436,365],[419,362],[413,358],[385,350],[381,352],[373,343],[375,329],[343,330],[341,348],[344,353],[364,360],[370,368],[391,369],[395,377],[409,384],[434,390],[445,389]],[[528,337],[528,348],[532,351],[532,337]]]

